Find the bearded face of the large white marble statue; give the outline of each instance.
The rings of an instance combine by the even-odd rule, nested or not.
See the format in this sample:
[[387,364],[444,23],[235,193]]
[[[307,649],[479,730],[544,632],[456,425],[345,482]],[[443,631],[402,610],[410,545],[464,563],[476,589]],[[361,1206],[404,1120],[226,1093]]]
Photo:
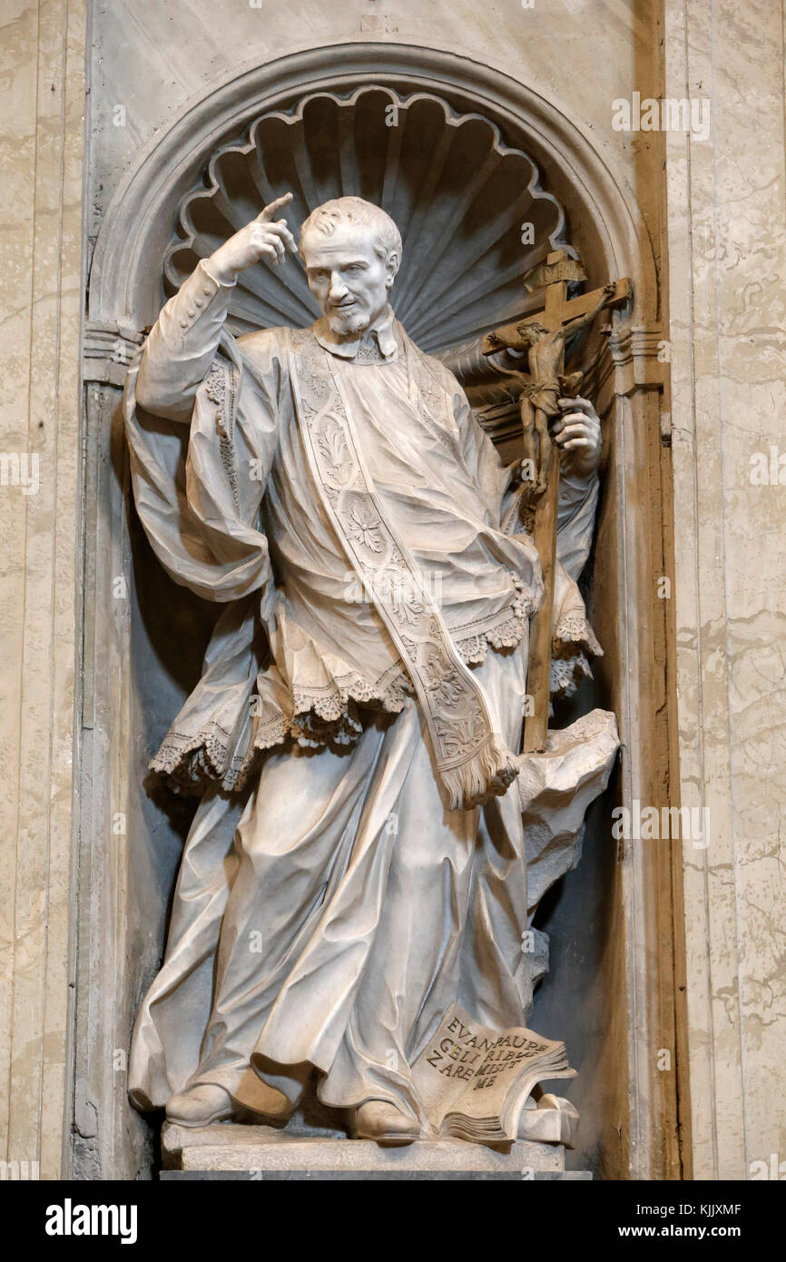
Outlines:
[[353,223],[303,240],[310,290],[334,333],[362,333],[387,307],[399,260],[395,254],[381,259],[375,244],[372,228]]

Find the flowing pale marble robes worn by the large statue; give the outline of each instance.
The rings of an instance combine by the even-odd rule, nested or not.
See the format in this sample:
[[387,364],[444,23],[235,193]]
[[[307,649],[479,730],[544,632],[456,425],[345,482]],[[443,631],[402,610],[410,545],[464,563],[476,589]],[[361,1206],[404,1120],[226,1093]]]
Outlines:
[[[315,1068],[327,1104],[425,1121],[409,1066],[448,1005],[507,1026],[531,1000],[505,789],[540,565],[511,469],[390,309],[355,342],[322,321],[233,339],[230,293],[201,264],[126,389],[153,548],[227,602],[151,762],[202,801],[130,1094],[264,1108],[260,1084],[294,1102]],[[578,572],[597,488],[568,491]],[[570,687],[598,650],[563,569],[556,604]]]

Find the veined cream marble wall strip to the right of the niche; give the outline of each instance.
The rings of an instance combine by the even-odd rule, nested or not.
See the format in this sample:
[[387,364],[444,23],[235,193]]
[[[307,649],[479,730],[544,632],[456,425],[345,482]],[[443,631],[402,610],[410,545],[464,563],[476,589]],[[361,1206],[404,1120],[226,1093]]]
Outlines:
[[783,5],[665,8],[666,95],[712,106],[667,138],[694,1176],[747,1179],[786,1162]]

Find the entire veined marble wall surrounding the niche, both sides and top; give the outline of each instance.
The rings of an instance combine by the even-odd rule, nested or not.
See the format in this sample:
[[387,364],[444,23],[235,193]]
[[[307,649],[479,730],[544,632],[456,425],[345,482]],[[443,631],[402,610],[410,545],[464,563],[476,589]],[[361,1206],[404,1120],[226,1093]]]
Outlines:
[[[710,808],[712,828],[707,852],[685,848],[693,1169],[698,1177],[743,1179],[772,1152],[786,1159],[778,852],[786,490],[777,473],[777,485],[751,482],[757,453],[770,462],[775,447],[778,469],[786,389],[781,5],[107,0],[92,6],[91,21],[86,49],[82,0],[6,0],[0,53],[10,95],[0,134],[4,167],[13,172],[0,191],[8,307],[0,1074],[11,1084],[10,1104],[0,1093],[0,1133],[8,1136],[0,1159],[39,1161],[43,1176],[56,1176],[68,1112],[78,363],[90,247],[138,151],[189,101],[243,67],[348,40],[448,49],[530,85],[635,189],[671,321],[676,779],[684,804]],[[86,67],[92,96],[82,203]],[[612,102],[635,92],[709,97],[709,139],[616,131]],[[667,218],[656,174],[664,150]],[[16,466],[16,483],[14,454],[28,457],[26,467]],[[20,482],[34,456],[39,486],[25,495]]]

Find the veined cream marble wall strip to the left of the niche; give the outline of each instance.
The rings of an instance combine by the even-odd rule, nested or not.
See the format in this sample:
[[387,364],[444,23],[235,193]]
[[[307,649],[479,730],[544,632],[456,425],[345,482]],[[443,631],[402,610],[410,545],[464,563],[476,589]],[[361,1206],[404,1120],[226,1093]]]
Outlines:
[[29,1174],[38,1162],[52,1179],[72,994],[81,0],[5,0],[0,64],[0,1160],[28,1162]]

